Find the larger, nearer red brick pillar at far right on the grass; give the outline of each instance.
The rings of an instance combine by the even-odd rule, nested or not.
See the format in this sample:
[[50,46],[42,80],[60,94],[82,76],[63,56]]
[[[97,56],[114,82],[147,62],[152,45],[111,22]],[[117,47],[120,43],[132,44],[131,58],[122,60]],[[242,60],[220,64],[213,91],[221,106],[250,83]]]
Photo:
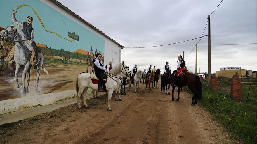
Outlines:
[[234,100],[241,101],[241,78],[230,78],[230,96]]

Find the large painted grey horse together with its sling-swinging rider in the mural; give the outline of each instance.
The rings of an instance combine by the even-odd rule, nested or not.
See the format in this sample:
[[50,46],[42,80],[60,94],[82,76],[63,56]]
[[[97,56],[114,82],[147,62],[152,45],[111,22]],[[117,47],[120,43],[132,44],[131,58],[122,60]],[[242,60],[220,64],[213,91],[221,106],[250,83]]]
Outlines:
[[[6,29],[0,31],[1,38],[4,40],[13,39],[13,42],[15,43],[15,50],[14,50],[14,61],[16,63],[16,70],[15,70],[15,76],[14,81],[17,85],[17,88],[19,88],[18,83],[18,74],[20,72],[20,69],[23,65],[24,70],[22,72],[22,88],[23,88],[23,94],[25,95],[28,93],[28,87],[29,87],[29,81],[30,81],[30,68],[31,68],[31,57],[32,57],[32,49],[36,47],[36,43],[34,42],[34,29],[31,26],[31,23],[33,21],[32,17],[27,17],[26,22],[19,22],[15,19],[15,13],[17,11],[12,11],[12,20],[16,24],[22,27],[22,30],[20,30],[17,26],[8,26]],[[39,75],[41,72],[41,68],[43,68],[44,72],[48,74],[48,71],[44,68],[43,65],[43,54],[40,52],[38,54],[38,60],[36,61],[36,65],[38,66],[37,70],[37,83],[36,83],[36,90],[38,88],[38,81],[39,81]],[[27,80],[27,86],[25,86],[25,79],[26,74],[28,77]]]

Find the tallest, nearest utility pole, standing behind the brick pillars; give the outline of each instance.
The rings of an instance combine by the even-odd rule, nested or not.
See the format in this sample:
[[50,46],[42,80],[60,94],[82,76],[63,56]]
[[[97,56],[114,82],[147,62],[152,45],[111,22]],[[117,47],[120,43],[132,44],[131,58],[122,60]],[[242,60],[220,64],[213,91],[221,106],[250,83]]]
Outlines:
[[208,19],[208,87],[211,87],[211,15]]

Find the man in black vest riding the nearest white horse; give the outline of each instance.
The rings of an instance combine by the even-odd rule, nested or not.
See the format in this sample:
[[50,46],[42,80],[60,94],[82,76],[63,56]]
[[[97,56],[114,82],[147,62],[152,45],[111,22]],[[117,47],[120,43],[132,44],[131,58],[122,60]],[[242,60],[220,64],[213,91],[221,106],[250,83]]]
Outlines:
[[[101,61],[102,55],[101,54],[96,54],[96,59],[95,59],[95,75],[98,78],[98,92],[107,92],[105,83],[103,83],[103,73],[107,72],[105,67],[103,67],[103,62]],[[103,88],[102,88],[103,86]]]

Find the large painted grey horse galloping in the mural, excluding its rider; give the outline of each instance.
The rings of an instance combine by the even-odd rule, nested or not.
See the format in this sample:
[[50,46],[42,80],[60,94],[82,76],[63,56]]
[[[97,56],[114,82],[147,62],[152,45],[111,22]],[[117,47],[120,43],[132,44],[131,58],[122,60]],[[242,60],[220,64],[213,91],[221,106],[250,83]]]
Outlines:
[[[16,70],[15,70],[14,81],[17,85],[17,88],[20,88],[17,77],[20,72],[21,66],[25,65],[24,70],[22,72],[22,87],[23,87],[23,94],[26,95],[26,93],[29,92],[30,68],[32,66],[30,63],[31,52],[27,48],[29,44],[26,42],[22,31],[18,29],[16,26],[8,26],[6,29],[0,31],[0,36],[2,39],[6,39],[6,40],[9,38],[12,38],[13,41],[15,42],[14,61],[16,63]],[[43,60],[44,60],[43,54],[39,53],[38,61],[37,61],[37,66],[39,69],[37,70],[36,90],[38,87],[38,80],[39,80],[41,68],[43,68],[44,72],[48,74],[48,71],[45,69],[43,65]],[[26,74],[28,74],[27,89],[25,87]]]

